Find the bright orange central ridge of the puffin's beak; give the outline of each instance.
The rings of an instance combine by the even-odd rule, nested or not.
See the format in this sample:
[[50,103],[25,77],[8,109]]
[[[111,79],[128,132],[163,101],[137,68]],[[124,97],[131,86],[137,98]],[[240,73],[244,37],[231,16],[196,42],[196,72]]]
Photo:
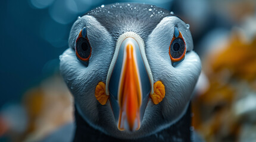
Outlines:
[[128,129],[133,131],[140,127],[139,108],[142,104],[142,91],[134,47],[133,43],[127,43],[124,49],[124,63],[118,89],[118,102],[120,104],[119,130]]

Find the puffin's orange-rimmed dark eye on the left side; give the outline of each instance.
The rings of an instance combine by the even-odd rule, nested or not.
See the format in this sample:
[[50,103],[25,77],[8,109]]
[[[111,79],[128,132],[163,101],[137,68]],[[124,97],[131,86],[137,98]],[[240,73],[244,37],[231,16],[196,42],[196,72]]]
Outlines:
[[92,47],[90,47],[90,43],[86,33],[86,27],[80,31],[76,39],[75,47],[77,58],[88,65],[90,54],[92,53]]

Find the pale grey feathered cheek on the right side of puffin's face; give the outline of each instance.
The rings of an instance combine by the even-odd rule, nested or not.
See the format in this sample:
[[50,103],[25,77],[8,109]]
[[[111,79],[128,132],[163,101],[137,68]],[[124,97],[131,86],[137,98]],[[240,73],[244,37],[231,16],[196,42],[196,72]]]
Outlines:
[[[185,59],[177,66],[171,65],[168,54],[174,27],[182,33],[187,46]],[[154,82],[161,80],[166,89],[166,96],[161,107],[152,106],[151,112],[161,112],[160,125],[167,127],[179,120],[185,113],[191,100],[191,94],[201,73],[201,61],[192,51],[193,42],[186,24],[177,17],[166,17],[157,25],[146,41],[146,57],[151,67]],[[155,108],[154,108],[155,107]],[[148,108],[149,109],[149,108]],[[145,114],[146,115],[146,114]]]

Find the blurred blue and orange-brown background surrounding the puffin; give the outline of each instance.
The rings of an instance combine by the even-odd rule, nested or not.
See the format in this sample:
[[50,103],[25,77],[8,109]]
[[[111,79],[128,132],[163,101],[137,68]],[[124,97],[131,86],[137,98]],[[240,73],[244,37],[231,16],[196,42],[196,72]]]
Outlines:
[[205,141],[256,141],[255,0],[1,1],[0,141],[47,141],[62,127],[73,130],[59,56],[77,17],[114,2],[157,5],[189,23],[202,61],[192,130]]

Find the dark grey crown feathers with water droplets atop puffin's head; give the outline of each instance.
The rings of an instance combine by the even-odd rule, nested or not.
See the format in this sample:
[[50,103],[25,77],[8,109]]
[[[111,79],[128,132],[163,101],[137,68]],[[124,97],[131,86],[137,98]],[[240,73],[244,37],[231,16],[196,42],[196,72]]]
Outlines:
[[154,5],[128,3],[105,5],[86,14],[95,17],[110,32],[115,41],[127,31],[133,31],[146,40],[164,17],[172,15],[166,9]]

